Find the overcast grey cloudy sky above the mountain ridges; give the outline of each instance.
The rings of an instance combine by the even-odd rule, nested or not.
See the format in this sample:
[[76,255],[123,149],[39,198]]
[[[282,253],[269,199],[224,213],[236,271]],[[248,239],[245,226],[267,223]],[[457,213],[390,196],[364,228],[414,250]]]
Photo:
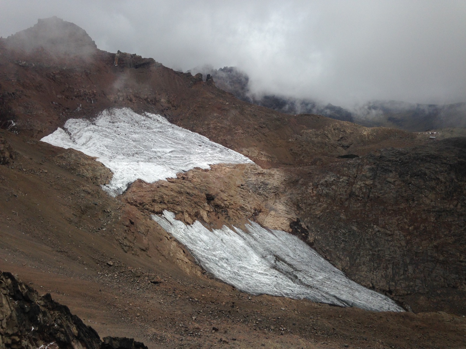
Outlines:
[[106,51],[239,67],[257,92],[344,107],[466,101],[465,0],[0,0],[0,35],[53,15]]

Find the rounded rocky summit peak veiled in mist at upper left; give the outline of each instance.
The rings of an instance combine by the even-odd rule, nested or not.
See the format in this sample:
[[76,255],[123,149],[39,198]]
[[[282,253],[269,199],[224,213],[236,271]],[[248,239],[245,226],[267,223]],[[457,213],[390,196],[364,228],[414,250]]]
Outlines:
[[39,19],[30,28],[7,38],[11,48],[27,52],[43,48],[54,54],[88,55],[97,46],[84,29],[56,16]]

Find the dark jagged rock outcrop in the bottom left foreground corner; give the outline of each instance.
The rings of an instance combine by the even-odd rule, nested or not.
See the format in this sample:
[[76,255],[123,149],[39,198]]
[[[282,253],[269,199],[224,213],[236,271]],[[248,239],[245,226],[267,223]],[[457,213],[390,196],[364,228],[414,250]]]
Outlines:
[[11,273],[0,274],[0,348],[147,349],[130,338],[104,338],[50,294],[40,296]]

